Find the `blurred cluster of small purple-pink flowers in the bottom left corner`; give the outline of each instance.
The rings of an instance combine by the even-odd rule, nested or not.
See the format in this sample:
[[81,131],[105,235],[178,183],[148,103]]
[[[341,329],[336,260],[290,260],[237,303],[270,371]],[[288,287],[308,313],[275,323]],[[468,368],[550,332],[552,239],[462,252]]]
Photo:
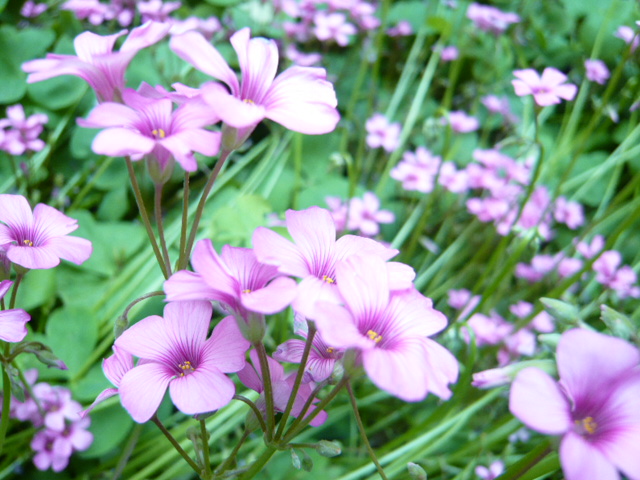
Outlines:
[[69,464],[69,457],[76,451],[91,446],[93,435],[87,431],[91,420],[80,417],[82,407],[71,398],[71,392],[58,385],[38,382],[37,370],[25,372],[33,397],[24,402],[13,399],[11,416],[29,421],[39,431],[31,440],[35,452],[33,463],[39,470],[60,472]]

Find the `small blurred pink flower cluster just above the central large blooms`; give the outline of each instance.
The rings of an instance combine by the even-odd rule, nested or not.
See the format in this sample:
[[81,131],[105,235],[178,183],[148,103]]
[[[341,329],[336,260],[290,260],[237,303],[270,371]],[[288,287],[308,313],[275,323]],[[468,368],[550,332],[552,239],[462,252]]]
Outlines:
[[380,224],[393,223],[395,215],[389,210],[380,210],[380,199],[373,192],[366,192],[362,198],[354,197],[344,202],[340,197],[325,199],[336,230],[351,230],[365,237],[375,237],[380,233]]

